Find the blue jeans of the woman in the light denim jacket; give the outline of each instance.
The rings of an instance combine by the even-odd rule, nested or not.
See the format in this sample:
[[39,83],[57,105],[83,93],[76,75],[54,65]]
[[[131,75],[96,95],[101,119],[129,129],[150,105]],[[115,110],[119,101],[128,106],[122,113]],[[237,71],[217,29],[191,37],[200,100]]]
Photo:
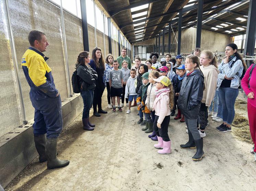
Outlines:
[[235,88],[219,88],[223,122],[229,125],[235,118],[235,99],[237,98],[238,92],[239,90]]

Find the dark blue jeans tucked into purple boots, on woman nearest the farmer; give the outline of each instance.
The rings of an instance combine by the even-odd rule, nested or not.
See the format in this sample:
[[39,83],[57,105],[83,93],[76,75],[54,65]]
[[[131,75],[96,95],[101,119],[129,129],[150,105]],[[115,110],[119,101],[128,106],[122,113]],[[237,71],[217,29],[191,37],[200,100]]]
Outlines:
[[93,106],[93,90],[82,91],[80,93],[84,102],[83,119],[89,118],[90,108]]

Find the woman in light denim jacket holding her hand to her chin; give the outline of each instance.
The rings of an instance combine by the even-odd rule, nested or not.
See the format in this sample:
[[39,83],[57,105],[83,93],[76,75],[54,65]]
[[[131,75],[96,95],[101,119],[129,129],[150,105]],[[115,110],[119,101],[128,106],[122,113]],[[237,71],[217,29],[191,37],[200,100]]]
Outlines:
[[235,117],[235,100],[241,83],[240,77],[247,69],[237,49],[236,44],[228,44],[225,48],[226,57],[219,65],[217,88],[222,104],[223,123],[216,129],[220,132],[231,131],[231,123]]

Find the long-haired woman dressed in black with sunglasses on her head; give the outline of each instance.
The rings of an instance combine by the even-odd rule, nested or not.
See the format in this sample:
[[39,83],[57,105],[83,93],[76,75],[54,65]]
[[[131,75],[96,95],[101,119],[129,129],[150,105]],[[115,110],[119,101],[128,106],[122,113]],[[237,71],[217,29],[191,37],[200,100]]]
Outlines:
[[[90,67],[92,67],[98,74],[98,79],[95,82],[95,90],[94,90],[94,96],[93,96],[93,115],[96,117],[100,117],[99,113],[106,114],[108,112],[105,112],[101,108],[101,97],[105,89],[105,77],[104,77],[104,71],[105,71],[105,62],[103,60],[103,56],[101,54],[101,49],[98,47],[95,47],[93,49],[92,53],[92,59],[89,63]],[[97,112],[97,105],[98,105],[98,112]]]

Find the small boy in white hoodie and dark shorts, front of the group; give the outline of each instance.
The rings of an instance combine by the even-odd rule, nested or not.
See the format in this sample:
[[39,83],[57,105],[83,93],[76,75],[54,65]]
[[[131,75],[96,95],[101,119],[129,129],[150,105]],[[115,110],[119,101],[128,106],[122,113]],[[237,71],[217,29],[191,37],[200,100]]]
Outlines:
[[126,99],[128,99],[129,101],[129,109],[127,110],[127,114],[129,114],[131,112],[131,105],[132,105],[132,101],[135,99],[137,99],[137,93],[136,93],[136,88],[135,88],[135,80],[136,80],[136,70],[135,69],[131,69],[130,72],[131,76],[129,77],[129,79],[126,82],[126,86],[125,86],[125,95],[124,97]]

